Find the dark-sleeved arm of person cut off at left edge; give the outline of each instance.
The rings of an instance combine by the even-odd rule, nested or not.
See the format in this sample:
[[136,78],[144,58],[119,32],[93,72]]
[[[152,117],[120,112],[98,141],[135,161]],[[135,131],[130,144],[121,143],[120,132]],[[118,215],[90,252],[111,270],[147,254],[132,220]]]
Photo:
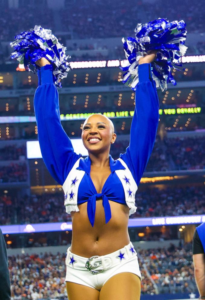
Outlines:
[[0,229],[0,299],[11,299],[11,286],[8,270],[8,258],[6,251],[6,243],[2,230]]

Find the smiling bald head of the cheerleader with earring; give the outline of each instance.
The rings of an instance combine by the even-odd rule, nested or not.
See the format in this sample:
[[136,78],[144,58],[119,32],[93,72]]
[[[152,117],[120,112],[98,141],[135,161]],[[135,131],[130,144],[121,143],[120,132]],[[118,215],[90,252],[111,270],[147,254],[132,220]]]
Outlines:
[[110,151],[111,143],[114,143],[113,122],[107,117],[94,114],[85,120],[82,129],[82,141],[90,153],[102,153]]

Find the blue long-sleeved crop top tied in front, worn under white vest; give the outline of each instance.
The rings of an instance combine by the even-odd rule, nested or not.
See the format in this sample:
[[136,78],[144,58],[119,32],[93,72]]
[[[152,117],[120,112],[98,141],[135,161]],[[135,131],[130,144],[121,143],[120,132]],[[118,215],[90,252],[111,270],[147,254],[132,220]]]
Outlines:
[[[159,122],[159,99],[150,68],[151,64],[139,65],[139,83],[136,89],[136,108],[130,129],[130,144],[126,152],[120,154],[120,158],[126,163],[137,185],[151,155]],[[71,141],[62,128],[58,90],[53,84],[52,70],[52,65],[46,65],[38,71],[39,86],[34,96],[34,111],[43,161],[53,178],[63,185],[81,155],[77,155],[73,151]],[[124,167],[119,160],[114,161],[110,155],[111,174],[107,178],[101,194],[97,193],[91,180],[90,168],[89,156],[80,160],[77,169],[85,171],[85,175],[78,188],[77,203],[88,201],[88,218],[91,225],[94,226],[97,198],[103,199],[106,223],[111,218],[108,199],[126,204],[122,183],[115,173],[116,170],[124,169]],[[73,181],[75,184],[75,178]],[[131,191],[128,189],[127,192]],[[72,197],[72,194],[68,197]]]

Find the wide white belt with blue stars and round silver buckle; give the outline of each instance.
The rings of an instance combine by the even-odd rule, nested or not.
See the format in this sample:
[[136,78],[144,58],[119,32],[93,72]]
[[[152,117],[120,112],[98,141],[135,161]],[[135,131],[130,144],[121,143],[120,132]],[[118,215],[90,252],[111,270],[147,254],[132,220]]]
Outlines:
[[97,274],[111,267],[117,266],[136,255],[137,253],[131,242],[122,249],[113,253],[102,256],[91,256],[90,258],[78,256],[72,253],[69,247],[66,255],[66,266],[78,270],[87,269],[92,274]]

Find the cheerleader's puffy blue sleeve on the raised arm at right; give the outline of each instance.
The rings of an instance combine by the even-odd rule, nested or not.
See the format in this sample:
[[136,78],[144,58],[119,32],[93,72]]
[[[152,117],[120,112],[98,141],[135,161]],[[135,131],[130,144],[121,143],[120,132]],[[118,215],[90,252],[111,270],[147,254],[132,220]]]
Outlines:
[[159,123],[159,99],[152,80],[151,64],[138,68],[139,83],[136,88],[135,111],[130,129],[130,145],[120,155],[138,185],[149,161]]

